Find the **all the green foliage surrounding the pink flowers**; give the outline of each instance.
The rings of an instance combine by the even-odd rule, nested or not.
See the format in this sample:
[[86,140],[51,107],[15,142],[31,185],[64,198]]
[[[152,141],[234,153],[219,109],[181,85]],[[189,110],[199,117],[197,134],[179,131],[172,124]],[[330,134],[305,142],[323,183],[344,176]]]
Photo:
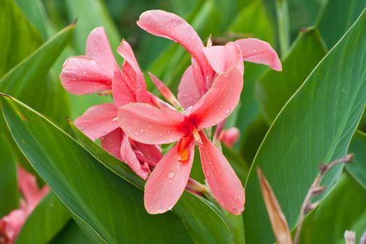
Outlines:
[[[16,243],[273,243],[255,167],[295,229],[318,165],[347,151],[355,153],[354,162],[346,173],[339,165],[326,175],[327,190],[314,199],[321,204],[305,218],[300,243],[343,243],[345,229],[360,236],[366,224],[366,135],[358,126],[366,103],[366,1],[277,3],[285,3],[280,12],[273,0],[1,0],[0,218],[20,205],[17,163],[52,189]],[[138,28],[139,15],[154,8],[181,15],[204,43],[210,35],[214,45],[259,38],[277,53],[282,44],[280,73],[245,62],[240,105],[225,127],[241,130],[234,148],[221,149],[246,183],[243,216],[188,191],[172,211],[148,215],[145,182],[65,119],[112,101],[66,94],[58,78],[68,56],[84,55],[97,26],[105,27],[120,65],[116,47],[125,38],[144,73],[175,93],[190,55]],[[148,76],[146,82],[157,93]],[[190,176],[205,183],[195,153]]]

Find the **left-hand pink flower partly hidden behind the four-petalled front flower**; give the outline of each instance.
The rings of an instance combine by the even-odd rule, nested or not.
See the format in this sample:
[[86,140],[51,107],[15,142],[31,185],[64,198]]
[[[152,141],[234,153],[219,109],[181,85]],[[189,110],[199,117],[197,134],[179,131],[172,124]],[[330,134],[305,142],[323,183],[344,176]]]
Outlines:
[[[102,27],[91,31],[86,41],[86,56],[67,59],[60,75],[61,83],[70,93],[112,93],[114,103],[90,107],[75,120],[75,125],[116,158],[127,163],[136,174],[146,179],[150,167],[162,158],[157,146],[142,144],[128,138],[116,122],[118,107],[128,102],[152,103],[144,75],[132,48],[122,40],[117,52],[125,59],[123,73],[114,59],[107,34]],[[154,98],[155,99],[155,98]]]

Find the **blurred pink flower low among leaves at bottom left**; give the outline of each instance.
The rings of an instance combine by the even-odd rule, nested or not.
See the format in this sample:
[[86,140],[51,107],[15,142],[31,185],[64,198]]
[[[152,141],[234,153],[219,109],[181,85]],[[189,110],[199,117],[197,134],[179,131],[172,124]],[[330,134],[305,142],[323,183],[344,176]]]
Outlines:
[[41,190],[38,188],[36,177],[26,172],[22,167],[17,168],[18,187],[24,197],[20,201],[20,208],[11,211],[0,220],[0,243],[12,244],[22,229],[26,218],[36,208],[38,203],[49,192],[45,185]]

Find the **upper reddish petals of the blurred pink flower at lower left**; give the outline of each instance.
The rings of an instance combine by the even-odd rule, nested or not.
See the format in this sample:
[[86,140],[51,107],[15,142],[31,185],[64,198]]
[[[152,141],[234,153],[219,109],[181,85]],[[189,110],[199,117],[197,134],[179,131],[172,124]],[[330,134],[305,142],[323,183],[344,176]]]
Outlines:
[[38,188],[36,177],[28,173],[25,169],[17,167],[18,185],[26,201],[26,210],[31,213],[43,197],[49,191],[46,185],[43,189]]

